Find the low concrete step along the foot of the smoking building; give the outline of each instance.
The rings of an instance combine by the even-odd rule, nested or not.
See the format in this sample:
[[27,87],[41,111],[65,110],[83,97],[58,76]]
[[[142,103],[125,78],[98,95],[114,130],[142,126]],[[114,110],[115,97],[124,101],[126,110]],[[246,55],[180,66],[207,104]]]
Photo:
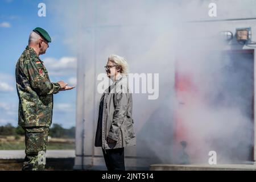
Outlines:
[[152,164],[151,171],[256,171],[255,164],[175,165]]

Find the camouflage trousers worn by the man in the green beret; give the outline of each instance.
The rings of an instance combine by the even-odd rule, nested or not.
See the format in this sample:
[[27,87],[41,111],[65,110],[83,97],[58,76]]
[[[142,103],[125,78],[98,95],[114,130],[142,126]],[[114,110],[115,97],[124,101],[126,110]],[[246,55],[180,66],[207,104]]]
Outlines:
[[23,171],[42,171],[46,165],[46,146],[48,142],[48,127],[24,127],[26,157]]

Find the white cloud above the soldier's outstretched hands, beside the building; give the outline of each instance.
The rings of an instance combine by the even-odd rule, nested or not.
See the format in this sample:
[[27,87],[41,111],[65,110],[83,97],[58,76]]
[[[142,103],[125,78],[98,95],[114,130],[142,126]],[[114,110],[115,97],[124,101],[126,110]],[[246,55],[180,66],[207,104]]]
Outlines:
[[44,64],[53,76],[76,75],[77,59],[76,57],[61,57],[57,60],[52,57],[44,59]]

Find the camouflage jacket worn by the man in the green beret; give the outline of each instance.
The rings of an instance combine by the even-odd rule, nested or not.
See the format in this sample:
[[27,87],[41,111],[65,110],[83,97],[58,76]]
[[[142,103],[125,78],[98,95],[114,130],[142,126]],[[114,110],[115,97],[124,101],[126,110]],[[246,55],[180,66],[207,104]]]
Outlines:
[[48,72],[34,49],[26,47],[16,64],[16,89],[22,127],[45,126],[52,122],[53,94],[60,85],[49,80]]

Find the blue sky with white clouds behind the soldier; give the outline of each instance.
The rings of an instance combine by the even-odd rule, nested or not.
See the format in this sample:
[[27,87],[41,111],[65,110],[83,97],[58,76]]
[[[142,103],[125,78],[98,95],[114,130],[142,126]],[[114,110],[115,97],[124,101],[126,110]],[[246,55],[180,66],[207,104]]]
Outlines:
[[[28,35],[35,27],[48,31],[52,43],[41,59],[45,61],[52,82],[64,80],[76,84],[76,55],[64,40],[56,23],[55,14],[46,11],[46,17],[38,16],[38,4],[47,1],[0,0],[0,125],[18,122],[18,96],[15,88],[15,64],[27,46]],[[63,127],[75,126],[76,90],[55,95],[53,123]]]

